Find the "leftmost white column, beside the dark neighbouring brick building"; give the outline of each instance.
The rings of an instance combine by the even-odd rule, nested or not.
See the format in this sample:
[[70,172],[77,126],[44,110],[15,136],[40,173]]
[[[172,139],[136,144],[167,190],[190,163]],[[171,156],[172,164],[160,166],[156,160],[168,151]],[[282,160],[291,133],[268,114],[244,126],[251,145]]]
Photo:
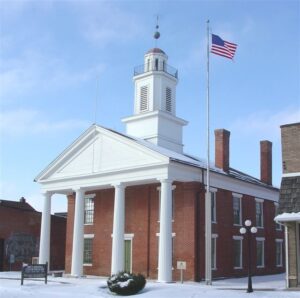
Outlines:
[[51,196],[52,193],[45,192],[44,206],[42,212],[39,263],[45,264],[50,261],[50,231],[51,231]]

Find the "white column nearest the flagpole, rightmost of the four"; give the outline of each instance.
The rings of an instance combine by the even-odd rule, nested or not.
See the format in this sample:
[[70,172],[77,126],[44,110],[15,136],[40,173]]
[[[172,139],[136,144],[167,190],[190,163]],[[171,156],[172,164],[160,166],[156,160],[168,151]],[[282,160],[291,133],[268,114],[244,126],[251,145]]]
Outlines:
[[160,191],[160,231],[158,281],[172,281],[172,181],[162,180]]

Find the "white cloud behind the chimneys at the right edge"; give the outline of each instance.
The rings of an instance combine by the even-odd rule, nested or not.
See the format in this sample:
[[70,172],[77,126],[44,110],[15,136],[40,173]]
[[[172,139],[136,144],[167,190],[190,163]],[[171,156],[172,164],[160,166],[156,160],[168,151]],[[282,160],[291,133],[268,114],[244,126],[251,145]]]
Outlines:
[[243,118],[237,118],[231,130],[244,136],[256,135],[260,139],[280,138],[280,125],[300,121],[300,108],[287,107],[281,111],[258,111]]

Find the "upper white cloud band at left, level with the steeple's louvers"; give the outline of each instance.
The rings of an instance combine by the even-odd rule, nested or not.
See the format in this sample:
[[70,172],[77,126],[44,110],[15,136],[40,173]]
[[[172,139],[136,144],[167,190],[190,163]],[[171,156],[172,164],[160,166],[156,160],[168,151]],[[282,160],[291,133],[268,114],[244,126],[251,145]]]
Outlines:
[[51,57],[38,51],[27,51],[17,59],[0,60],[0,98],[11,100],[17,95],[67,87],[90,80],[105,70],[104,64],[94,65],[80,70],[70,70],[62,59]]

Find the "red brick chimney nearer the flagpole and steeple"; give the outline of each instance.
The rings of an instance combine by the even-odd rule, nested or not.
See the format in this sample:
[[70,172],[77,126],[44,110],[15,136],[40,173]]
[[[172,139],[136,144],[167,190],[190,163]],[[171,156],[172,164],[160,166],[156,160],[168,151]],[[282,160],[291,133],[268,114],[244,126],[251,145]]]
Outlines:
[[229,138],[230,131],[215,130],[215,165],[223,171],[229,171]]

